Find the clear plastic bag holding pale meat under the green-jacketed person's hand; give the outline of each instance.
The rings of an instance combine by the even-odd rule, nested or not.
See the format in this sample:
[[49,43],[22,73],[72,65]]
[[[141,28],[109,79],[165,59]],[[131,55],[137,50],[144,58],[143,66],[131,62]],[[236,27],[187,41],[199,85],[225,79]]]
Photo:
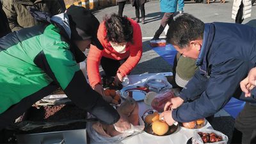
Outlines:
[[141,133],[145,127],[145,124],[144,124],[143,120],[141,119],[141,117],[139,117],[139,120],[140,120],[140,125],[133,126],[131,124],[131,129],[128,129],[128,130],[124,131],[124,133],[120,133],[113,137],[102,136],[101,134],[97,133],[97,131],[95,131],[92,127],[93,123],[95,123],[95,122],[87,122],[86,129],[88,131],[88,135],[90,136],[90,138],[92,138],[95,142],[115,143],[115,142],[124,140],[124,138],[126,138],[127,136],[133,136],[138,133]]

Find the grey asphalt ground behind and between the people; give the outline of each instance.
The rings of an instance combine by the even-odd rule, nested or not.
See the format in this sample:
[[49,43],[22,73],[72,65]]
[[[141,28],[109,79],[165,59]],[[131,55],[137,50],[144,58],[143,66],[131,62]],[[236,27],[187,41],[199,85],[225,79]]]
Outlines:
[[[231,19],[233,1],[226,0],[225,3],[220,3],[219,0],[216,2],[210,1],[210,4],[195,3],[191,1],[186,1],[184,6],[184,12],[190,13],[195,17],[199,18],[205,23],[208,22],[230,22],[234,23]],[[93,11],[95,16],[100,20],[103,20],[105,15],[111,13],[117,13],[118,6],[111,6],[108,8],[102,8],[101,10]],[[141,73],[161,73],[166,71],[172,71],[172,66],[170,66],[164,59],[162,59],[154,50],[149,47],[149,40],[154,36],[154,33],[158,29],[163,13],[159,9],[159,1],[149,1],[145,4],[146,18],[145,24],[141,24],[141,32],[143,36],[143,55],[141,60],[133,69],[131,75],[141,74]],[[135,18],[135,8],[131,4],[125,4],[123,15],[127,17]],[[252,17],[244,20],[243,24],[256,25],[256,11],[255,5],[252,6]],[[161,36],[165,36],[164,33]],[[228,115],[228,113],[223,112],[217,113],[214,119],[211,120],[210,124],[212,127],[221,131],[228,136],[228,143],[232,139],[232,133],[234,131],[234,119]]]

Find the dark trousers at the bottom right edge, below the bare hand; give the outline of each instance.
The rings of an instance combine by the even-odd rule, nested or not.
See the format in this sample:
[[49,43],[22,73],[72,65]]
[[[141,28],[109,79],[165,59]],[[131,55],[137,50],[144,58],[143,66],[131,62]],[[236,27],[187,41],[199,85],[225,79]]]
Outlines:
[[256,143],[256,104],[246,103],[244,105],[243,110],[236,117],[235,127],[242,133],[242,144]]

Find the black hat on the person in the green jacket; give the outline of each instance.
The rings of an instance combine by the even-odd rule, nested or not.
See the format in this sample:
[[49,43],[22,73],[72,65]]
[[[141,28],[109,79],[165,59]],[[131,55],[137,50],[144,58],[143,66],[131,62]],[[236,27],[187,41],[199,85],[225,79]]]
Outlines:
[[71,30],[72,40],[92,40],[92,44],[100,50],[103,47],[97,38],[97,31],[100,25],[99,20],[92,14],[90,10],[86,10],[83,6],[70,6],[67,9],[67,15],[71,17],[76,27]]

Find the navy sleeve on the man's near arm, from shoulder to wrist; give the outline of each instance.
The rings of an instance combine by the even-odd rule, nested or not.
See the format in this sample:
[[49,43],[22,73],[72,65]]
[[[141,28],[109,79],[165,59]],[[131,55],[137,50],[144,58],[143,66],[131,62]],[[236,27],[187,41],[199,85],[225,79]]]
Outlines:
[[189,122],[218,112],[228,103],[236,89],[240,89],[239,83],[247,75],[249,67],[248,62],[241,59],[230,59],[212,66],[205,91],[195,101],[184,103],[173,110],[173,119]]

